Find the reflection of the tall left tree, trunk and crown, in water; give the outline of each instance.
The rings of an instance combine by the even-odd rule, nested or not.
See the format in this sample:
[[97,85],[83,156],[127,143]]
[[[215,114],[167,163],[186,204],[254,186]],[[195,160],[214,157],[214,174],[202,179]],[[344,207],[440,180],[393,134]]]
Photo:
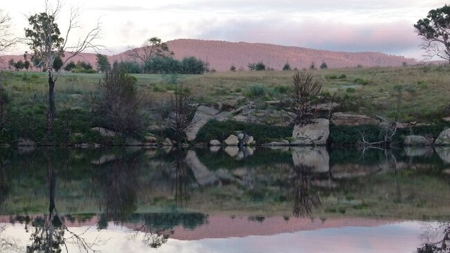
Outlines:
[[[69,252],[67,243],[78,246],[79,252],[94,252],[93,246],[97,245],[97,238],[93,243],[87,242],[82,235],[71,232],[65,225],[64,217],[57,212],[55,205],[56,173],[47,156],[47,182],[48,182],[48,215],[37,217],[31,223],[35,228],[31,233],[31,244],[26,247],[27,253],[32,252],[62,252],[62,247]],[[26,226],[28,231],[28,227]]]

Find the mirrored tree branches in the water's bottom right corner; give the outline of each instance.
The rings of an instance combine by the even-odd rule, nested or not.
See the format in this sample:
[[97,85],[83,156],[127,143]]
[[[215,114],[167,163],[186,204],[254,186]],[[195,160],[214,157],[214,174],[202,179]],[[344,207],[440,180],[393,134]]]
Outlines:
[[427,227],[422,234],[422,239],[425,243],[417,248],[417,253],[449,253],[450,223],[440,223],[438,227]]

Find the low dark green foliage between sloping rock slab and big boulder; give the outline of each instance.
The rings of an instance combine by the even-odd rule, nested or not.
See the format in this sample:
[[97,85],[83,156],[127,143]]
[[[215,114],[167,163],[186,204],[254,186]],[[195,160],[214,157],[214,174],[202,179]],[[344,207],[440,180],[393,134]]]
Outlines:
[[210,120],[200,129],[196,140],[199,142],[209,142],[215,139],[222,141],[229,135],[235,134],[236,131],[243,131],[252,135],[258,143],[278,141],[292,135],[292,127],[277,127],[232,120],[223,122]]

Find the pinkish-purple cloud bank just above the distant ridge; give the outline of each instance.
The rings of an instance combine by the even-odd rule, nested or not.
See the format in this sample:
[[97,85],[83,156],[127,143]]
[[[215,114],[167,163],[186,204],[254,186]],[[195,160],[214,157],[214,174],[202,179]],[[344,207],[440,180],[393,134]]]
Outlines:
[[417,48],[420,39],[411,24],[347,24],[307,19],[233,19],[204,28],[198,39],[262,42],[345,52],[399,54]]

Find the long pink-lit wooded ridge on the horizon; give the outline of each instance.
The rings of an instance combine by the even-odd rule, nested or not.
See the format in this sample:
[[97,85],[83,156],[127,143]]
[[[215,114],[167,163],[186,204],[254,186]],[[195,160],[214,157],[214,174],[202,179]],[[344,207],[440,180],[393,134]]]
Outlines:
[[[346,53],[330,50],[316,50],[296,46],[280,46],[274,44],[229,42],[201,39],[175,39],[167,41],[170,50],[174,51],[176,59],[186,56],[195,56],[209,62],[210,68],[216,71],[228,71],[231,65],[237,69],[248,70],[247,65],[253,62],[263,62],[266,66],[280,70],[285,63],[291,68],[309,68],[314,62],[316,67],[324,61],[328,68],[343,68],[354,66],[402,66],[417,64],[415,59],[398,55],[386,55],[384,53],[362,52]],[[9,59],[24,59],[22,55],[4,55],[6,62]],[[109,61],[134,60],[129,57],[129,51],[118,55],[109,55]],[[90,62],[96,68],[96,54],[82,53],[74,57],[73,61],[84,60]]]

